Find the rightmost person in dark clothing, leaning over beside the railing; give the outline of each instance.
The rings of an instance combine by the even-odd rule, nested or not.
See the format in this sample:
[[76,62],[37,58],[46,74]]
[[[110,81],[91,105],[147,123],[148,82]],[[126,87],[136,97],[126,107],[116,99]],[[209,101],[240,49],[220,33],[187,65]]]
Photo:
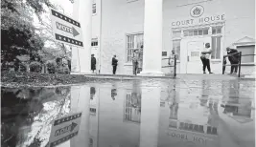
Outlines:
[[231,64],[230,74],[237,73],[239,64],[239,52],[236,49],[230,48],[226,48],[226,52],[228,54],[228,60]]

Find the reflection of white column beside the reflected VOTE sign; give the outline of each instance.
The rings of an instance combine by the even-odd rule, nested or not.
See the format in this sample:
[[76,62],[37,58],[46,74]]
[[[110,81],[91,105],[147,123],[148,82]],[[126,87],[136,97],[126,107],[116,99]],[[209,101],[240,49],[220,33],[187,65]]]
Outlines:
[[[89,108],[90,108],[90,88],[86,86],[73,86],[71,88],[71,111],[81,112],[81,126],[79,135],[70,140],[70,146],[89,146]],[[73,100],[75,99],[75,100]],[[76,104],[72,104],[76,103]]]

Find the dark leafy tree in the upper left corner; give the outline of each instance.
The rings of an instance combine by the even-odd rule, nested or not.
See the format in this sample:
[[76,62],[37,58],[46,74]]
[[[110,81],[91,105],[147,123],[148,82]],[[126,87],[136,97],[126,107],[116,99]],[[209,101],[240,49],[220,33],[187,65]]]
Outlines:
[[54,7],[49,0],[1,0],[2,62],[42,50],[44,42],[35,32],[33,14],[41,21],[44,6]]

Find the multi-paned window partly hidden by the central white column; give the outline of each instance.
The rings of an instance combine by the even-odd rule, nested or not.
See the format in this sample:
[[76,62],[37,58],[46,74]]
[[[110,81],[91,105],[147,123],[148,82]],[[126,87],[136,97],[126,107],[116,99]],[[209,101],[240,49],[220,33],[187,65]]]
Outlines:
[[135,49],[140,49],[143,45],[143,33],[127,35],[127,61],[130,62]]

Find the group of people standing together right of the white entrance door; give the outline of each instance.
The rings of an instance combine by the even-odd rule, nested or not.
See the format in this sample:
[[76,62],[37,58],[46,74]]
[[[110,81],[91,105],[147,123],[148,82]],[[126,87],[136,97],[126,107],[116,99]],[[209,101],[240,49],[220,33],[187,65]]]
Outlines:
[[[212,73],[211,66],[210,66],[210,56],[212,53],[212,49],[210,47],[211,47],[210,43],[206,43],[200,55],[200,59],[203,65],[202,66],[203,73],[206,73],[205,71],[206,68],[209,73]],[[224,56],[222,73],[225,72],[226,57],[228,57],[228,60],[231,63],[230,74],[233,74],[233,73],[236,74],[238,72],[239,52],[236,49],[230,49],[230,48],[226,48],[226,52],[227,52],[227,55]]]

